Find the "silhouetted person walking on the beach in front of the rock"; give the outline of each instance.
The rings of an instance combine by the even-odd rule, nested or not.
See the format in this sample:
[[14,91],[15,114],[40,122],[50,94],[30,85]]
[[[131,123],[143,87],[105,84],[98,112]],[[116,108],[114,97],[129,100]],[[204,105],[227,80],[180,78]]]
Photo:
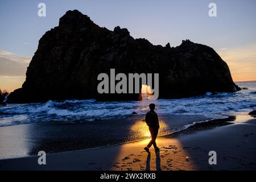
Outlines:
[[146,118],[145,121],[147,123],[148,129],[150,130],[150,134],[151,134],[151,140],[150,142],[147,144],[147,147],[144,148],[144,150],[146,150],[148,153],[149,148],[152,146],[154,146],[156,151],[159,151],[158,146],[156,146],[155,140],[156,137],[158,136],[158,129],[159,129],[159,121],[158,121],[158,114],[155,113],[155,104],[150,104],[150,111],[147,112],[146,114]]

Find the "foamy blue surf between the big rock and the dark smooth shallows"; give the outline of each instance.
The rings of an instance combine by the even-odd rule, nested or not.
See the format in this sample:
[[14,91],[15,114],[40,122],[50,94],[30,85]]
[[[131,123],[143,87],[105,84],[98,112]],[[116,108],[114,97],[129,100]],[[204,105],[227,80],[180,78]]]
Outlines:
[[[96,100],[48,101],[33,104],[8,104],[0,107],[0,127],[35,122],[94,122],[127,117],[133,112],[144,115],[148,105],[158,114],[205,115],[225,118],[230,111],[256,109],[256,81],[236,82],[242,89],[234,93],[206,93],[203,96],[143,101],[97,102]],[[189,124],[189,123],[187,123]]]

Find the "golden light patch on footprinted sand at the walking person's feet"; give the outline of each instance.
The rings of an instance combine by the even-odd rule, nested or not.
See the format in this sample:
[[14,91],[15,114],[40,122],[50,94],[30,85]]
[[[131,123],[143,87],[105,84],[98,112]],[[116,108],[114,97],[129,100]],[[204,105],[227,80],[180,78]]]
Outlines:
[[[175,166],[176,170],[185,167],[193,169],[193,165],[186,160],[187,151],[177,139],[159,137],[156,139],[160,151],[150,148],[150,154],[143,150],[143,147],[150,139],[138,142],[127,143],[119,148],[115,159],[112,162],[112,170],[141,170],[141,171],[170,171]],[[177,167],[179,166],[179,167]]]

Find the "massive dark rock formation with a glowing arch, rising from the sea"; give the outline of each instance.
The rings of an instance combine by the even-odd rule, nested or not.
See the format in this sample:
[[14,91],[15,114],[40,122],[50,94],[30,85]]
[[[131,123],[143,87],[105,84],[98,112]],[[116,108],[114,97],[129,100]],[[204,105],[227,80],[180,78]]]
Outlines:
[[115,73],[159,73],[159,98],[206,92],[235,92],[228,65],[210,47],[183,40],[180,46],[154,46],[134,39],[126,28],[110,31],[86,15],[69,10],[59,26],[39,40],[22,88],[7,101],[44,102],[86,99],[141,100],[141,94],[98,94],[97,76]]

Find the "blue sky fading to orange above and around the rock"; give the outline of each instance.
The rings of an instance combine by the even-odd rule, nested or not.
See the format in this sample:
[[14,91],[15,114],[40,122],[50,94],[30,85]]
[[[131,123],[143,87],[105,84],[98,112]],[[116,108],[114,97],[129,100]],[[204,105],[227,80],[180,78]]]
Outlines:
[[[217,16],[210,17],[209,3]],[[38,4],[46,4],[46,17]],[[77,9],[94,23],[113,30],[127,28],[134,38],[172,47],[181,40],[205,44],[228,63],[234,81],[256,80],[255,0],[8,0],[0,1],[0,88],[13,91],[26,78],[26,69],[43,34],[59,18]]]

